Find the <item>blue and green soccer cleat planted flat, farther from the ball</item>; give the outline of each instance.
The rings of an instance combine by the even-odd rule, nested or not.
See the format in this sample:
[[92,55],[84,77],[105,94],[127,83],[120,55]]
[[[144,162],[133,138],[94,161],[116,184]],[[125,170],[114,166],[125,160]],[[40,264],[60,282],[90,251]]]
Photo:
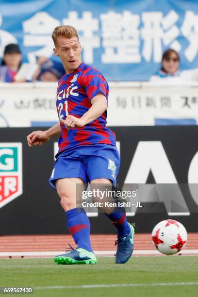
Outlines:
[[56,264],[97,264],[97,258],[94,253],[89,252],[84,248],[76,248],[65,254],[54,258]]

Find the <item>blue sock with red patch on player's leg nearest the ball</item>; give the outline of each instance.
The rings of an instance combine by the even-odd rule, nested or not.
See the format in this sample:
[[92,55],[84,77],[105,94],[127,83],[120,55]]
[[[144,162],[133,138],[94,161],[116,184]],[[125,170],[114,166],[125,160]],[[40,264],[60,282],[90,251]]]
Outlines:
[[115,210],[111,214],[106,214],[106,216],[112,221],[115,228],[117,229],[117,236],[124,237],[128,235],[131,231],[129,224],[126,219],[126,212],[124,207],[115,207]]

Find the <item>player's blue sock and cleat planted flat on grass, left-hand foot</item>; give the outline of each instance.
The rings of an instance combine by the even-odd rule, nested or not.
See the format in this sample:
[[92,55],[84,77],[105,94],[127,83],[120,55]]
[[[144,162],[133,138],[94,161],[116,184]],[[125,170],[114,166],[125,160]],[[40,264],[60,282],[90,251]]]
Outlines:
[[90,222],[82,208],[73,208],[66,212],[67,227],[73,236],[76,249],[56,256],[57,264],[97,264],[97,258],[90,243]]

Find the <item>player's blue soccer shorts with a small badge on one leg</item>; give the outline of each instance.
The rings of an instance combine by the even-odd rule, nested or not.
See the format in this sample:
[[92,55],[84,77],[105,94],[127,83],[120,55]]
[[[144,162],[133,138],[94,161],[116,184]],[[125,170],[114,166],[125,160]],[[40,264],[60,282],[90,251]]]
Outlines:
[[49,178],[49,185],[56,189],[55,181],[63,178],[81,178],[85,183],[104,178],[116,184],[119,167],[120,156],[115,146],[79,146],[58,156]]

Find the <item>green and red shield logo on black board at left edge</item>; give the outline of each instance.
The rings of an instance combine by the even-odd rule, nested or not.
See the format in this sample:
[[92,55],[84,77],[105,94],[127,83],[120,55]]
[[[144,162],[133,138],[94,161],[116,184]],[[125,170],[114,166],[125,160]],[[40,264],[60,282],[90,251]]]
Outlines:
[[22,194],[22,144],[0,143],[0,208]]

